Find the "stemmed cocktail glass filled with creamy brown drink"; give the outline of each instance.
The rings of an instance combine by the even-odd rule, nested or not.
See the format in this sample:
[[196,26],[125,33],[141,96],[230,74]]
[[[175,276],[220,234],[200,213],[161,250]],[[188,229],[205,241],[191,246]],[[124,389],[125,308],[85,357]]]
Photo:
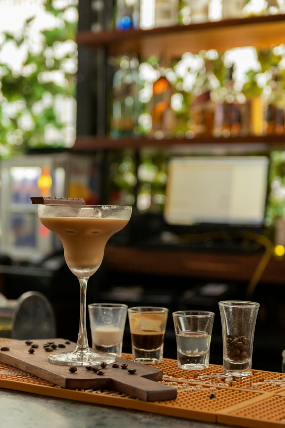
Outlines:
[[50,354],[54,364],[67,366],[113,363],[115,356],[94,352],[86,333],[86,287],[88,279],[100,267],[108,239],[123,229],[132,214],[129,206],[110,205],[38,205],[41,223],[62,241],[68,268],[79,279],[80,318],[76,348],[73,352]]

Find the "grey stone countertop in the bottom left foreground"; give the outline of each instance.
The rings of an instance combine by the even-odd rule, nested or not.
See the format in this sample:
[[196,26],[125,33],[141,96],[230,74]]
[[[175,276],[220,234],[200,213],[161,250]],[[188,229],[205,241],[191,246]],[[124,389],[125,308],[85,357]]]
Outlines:
[[7,428],[229,428],[155,413],[0,389],[0,426]]

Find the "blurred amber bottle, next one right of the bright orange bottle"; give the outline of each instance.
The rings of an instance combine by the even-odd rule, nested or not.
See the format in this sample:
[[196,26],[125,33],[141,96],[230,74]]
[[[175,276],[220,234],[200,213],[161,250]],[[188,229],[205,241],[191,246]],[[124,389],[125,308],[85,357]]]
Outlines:
[[220,83],[213,72],[213,64],[205,60],[205,68],[197,77],[193,88],[194,102],[190,108],[192,131],[195,136],[210,136],[214,131],[214,112],[216,102],[213,92],[217,91]]

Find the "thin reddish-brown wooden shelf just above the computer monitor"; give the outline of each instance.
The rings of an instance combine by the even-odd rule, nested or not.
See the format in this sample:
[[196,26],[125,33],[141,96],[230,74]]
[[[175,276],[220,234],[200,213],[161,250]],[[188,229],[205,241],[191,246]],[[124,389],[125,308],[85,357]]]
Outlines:
[[[164,147],[179,147],[179,149],[184,148],[197,148],[201,149],[201,146],[214,148],[219,145],[234,145],[237,148],[242,150],[247,147],[247,150],[268,150],[268,149],[285,149],[285,135],[270,135],[270,136],[260,136],[248,135],[246,137],[229,137],[229,138],[214,138],[214,137],[194,137],[191,140],[183,138],[182,140],[171,138],[167,140],[154,140],[149,138],[100,138],[92,135],[83,135],[77,136],[75,145],[72,148],[72,151],[80,152],[94,152],[101,149],[139,149],[142,147],[155,147],[155,148],[164,148]],[[244,146],[244,147],[243,147]]]

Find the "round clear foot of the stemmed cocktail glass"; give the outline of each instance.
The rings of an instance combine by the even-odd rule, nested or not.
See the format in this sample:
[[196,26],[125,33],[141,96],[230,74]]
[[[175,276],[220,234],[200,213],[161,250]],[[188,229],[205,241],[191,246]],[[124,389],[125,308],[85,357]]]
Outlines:
[[106,352],[61,352],[59,354],[50,354],[48,356],[50,363],[62,366],[100,366],[103,361],[107,364],[114,363],[116,355]]

